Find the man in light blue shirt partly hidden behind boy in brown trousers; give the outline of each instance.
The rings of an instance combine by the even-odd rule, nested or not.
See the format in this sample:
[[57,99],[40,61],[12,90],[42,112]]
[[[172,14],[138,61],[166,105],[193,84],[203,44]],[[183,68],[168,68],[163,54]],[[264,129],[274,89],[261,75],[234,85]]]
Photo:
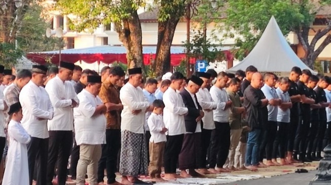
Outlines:
[[[143,95],[146,97],[146,99],[150,102],[150,104],[152,105],[154,100],[156,100],[156,97],[154,95],[155,90],[157,88],[157,84],[158,81],[154,78],[150,78],[146,81],[145,83],[145,88],[142,89]],[[145,114],[145,131],[146,131],[146,147],[147,147],[147,151],[150,151],[150,138],[151,138],[151,132],[150,132],[150,128],[147,124],[147,120],[150,117],[151,112],[146,112]],[[150,153],[147,153],[147,161],[148,163],[150,163]]]

